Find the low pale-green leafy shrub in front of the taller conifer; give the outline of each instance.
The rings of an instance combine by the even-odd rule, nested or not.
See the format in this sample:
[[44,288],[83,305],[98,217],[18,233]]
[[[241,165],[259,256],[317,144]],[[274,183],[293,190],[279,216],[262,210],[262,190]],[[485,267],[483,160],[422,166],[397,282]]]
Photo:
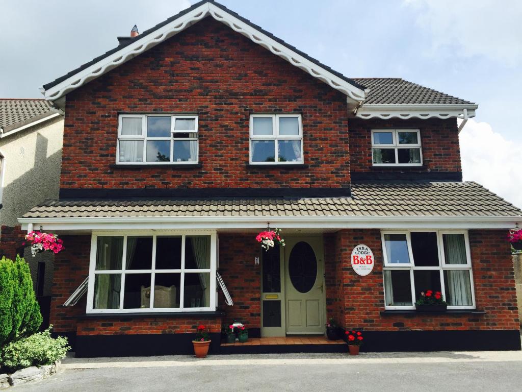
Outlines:
[[28,366],[50,365],[65,358],[70,350],[67,338],[59,336],[53,339],[51,328],[5,345],[0,353],[3,366],[9,371],[16,371]]

